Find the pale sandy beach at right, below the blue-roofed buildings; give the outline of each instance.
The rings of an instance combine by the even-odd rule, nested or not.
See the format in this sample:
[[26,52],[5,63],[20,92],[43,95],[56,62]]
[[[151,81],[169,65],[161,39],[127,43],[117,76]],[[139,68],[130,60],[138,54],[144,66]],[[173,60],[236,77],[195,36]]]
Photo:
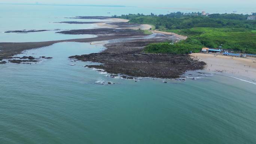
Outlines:
[[[227,76],[242,76],[256,79],[256,59],[233,56],[213,55],[207,53],[192,53],[196,59],[207,63],[205,70],[222,73]],[[222,71],[222,72],[220,72]]]

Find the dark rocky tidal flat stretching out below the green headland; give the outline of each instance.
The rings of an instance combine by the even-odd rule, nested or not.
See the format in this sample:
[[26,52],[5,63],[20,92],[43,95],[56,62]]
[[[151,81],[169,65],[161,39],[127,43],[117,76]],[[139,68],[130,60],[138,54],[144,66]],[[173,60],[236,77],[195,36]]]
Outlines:
[[[100,23],[107,28],[82,29],[60,31],[61,34],[94,34],[98,37],[85,39],[56,40],[48,42],[28,43],[0,43],[0,58],[12,59],[12,56],[23,50],[41,48],[60,42],[97,42],[113,40],[104,46],[107,48],[100,53],[89,55],[76,55],[81,61],[100,62],[101,65],[91,65],[93,68],[104,69],[110,74],[126,74],[133,77],[155,77],[155,78],[179,78],[188,70],[202,70],[205,63],[193,59],[189,55],[153,54],[144,53],[143,48],[150,43],[166,42],[171,39],[173,33],[155,33],[147,38],[149,34],[144,31],[151,28],[147,24],[129,24],[126,19],[111,19],[110,24]],[[116,25],[115,25],[116,24]],[[116,28],[111,28],[111,27]],[[162,33],[162,32],[161,32]],[[83,54],[83,53],[81,53]]]

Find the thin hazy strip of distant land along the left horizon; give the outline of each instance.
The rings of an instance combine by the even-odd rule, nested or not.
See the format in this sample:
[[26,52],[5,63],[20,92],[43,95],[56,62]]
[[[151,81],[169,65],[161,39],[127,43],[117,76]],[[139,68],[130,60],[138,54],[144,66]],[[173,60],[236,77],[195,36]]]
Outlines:
[[97,5],[97,4],[43,4],[43,3],[0,3],[8,5],[35,5],[35,6],[95,6],[95,7],[135,7],[123,5]]

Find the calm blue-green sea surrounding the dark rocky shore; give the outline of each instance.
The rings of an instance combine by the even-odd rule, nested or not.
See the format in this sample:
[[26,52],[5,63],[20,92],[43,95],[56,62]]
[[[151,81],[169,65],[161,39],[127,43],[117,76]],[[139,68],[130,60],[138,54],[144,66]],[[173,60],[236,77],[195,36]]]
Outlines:
[[[151,11],[150,11],[151,10]],[[0,31],[71,30],[71,16],[164,13],[138,7],[0,5]],[[111,12],[111,14],[107,14]],[[166,13],[166,12],[165,12]],[[89,21],[79,20],[75,21]],[[100,20],[90,20],[100,21]],[[0,33],[0,42],[95,37],[56,31]],[[0,48],[1,49],[1,48]],[[255,144],[256,85],[217,74],[186,82],[111,78],[68,56],[101,44],[56,43],[18,56],[51,56],[37,64],[0,65],[0,144]],[[76,64],[71,66],[70,64]],[[112,82],[112,85],[102,85]]]

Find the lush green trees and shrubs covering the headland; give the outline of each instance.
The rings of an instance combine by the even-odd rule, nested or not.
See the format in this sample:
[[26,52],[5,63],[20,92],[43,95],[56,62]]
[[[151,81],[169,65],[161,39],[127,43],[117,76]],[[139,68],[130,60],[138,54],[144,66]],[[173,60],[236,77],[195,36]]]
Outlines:
[[188,36],[188,39],[170,45],[155,43],[146,46],[150,53],[199,52],[202,47],[234,49],[256,54],[256,21],[247,21],[249,15],[201,13],[170,13],[167,15],[122,15],[131,23],[151,24],[157,30]]

